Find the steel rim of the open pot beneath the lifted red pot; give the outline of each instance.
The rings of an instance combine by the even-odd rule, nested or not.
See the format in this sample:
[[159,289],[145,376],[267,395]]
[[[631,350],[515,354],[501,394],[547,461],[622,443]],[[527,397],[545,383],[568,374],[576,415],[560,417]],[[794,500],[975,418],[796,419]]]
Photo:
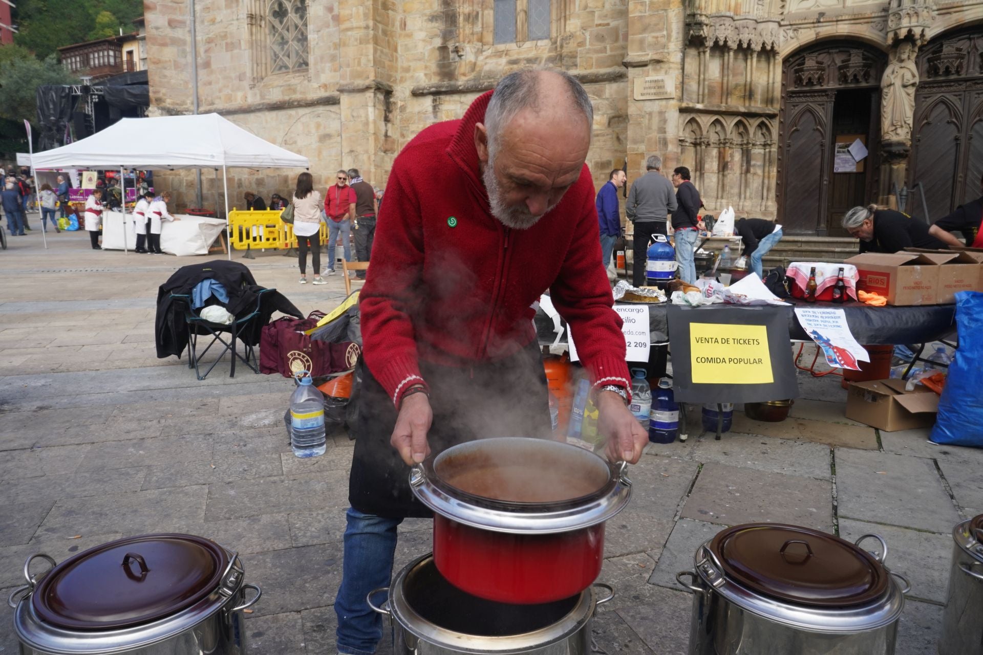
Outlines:
[[417,614],[406,601],[402,591],[406,575],[431,557],[433,557],[431,553],[419,557],[406,565],[399,573],[396,573],[392,585],[389,587],[389,599],[385,603],[385,609],[405,630],[417,638],[442,648],[465,653],[496,653],[498,655],[509,655],[543,648],[561,641],[583,628],[594,616],[594,608],[598,604],[593,587],[588,587],[581,592],[577,604],[563,619],[546,628],[523,634],[479,636],[440,628]]

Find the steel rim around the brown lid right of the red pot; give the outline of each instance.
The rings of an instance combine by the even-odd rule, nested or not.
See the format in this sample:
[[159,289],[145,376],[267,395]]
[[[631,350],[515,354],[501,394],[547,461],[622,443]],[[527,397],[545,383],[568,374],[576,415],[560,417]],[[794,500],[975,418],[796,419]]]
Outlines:
[[[893,624],[904,607],[904,595],[893,577],[896,573],[892,573],[888,590],[880,599],[854,607],[797,606],[765,596],[726,578],[723,568],[715,562],[708,548],[709,543],[709,539],[705,541],[693,557],[694,568],[702,587],[700,591],[696,591],[694,587],[690,587],[690,590],[694,593],[720,593],[725,600],[737,607],[788,628],[824,634],[866,632]],[[887,567],[885,569],[888,570]],[[888,573],[891,573],[890,570]]]

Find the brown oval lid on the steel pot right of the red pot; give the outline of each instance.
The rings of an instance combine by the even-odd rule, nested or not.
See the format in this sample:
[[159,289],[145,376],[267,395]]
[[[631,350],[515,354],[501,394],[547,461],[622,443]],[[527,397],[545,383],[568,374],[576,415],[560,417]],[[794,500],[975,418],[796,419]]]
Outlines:
[[851,607],[888,590],[889,573],[832,534],[781,523],[735,525],[710,542],[728,579],[798,605]]

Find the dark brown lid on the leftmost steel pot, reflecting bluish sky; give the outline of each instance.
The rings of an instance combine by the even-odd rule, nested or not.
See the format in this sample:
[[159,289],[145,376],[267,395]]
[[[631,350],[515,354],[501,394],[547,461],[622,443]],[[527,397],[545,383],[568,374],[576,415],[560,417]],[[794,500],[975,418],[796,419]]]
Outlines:
[[52,569],[31,602],[41,620],[62,628],[139,626],[191,607],[214,591],[228,558],[218,544],[190,534],[119,539]]

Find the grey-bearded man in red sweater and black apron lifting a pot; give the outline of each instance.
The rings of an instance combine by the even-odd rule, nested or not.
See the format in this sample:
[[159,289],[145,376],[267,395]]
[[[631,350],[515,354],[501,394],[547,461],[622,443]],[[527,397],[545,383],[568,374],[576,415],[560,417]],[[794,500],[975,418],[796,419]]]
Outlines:
[[641,457],[648,435],[626,407],[625,342],[584,164],[592,123],[580,82],[520,71],[396,157],[360,296],[339,653],[376,651],[381,622],[366,595],[389,583],[399,522],[431,516],[410,466],[480,437],[549,435],[533,326],[544,292],[577,340],[608,457]]

